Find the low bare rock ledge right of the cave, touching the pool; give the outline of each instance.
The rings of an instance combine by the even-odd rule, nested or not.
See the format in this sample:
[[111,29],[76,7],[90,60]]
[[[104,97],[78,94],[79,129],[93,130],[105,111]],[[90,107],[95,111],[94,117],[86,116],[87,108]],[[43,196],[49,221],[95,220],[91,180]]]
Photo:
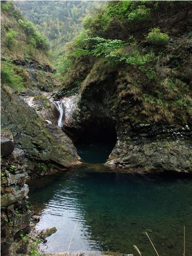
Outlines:
[[144,171],[192,171],[191,132],[180,130],[180,133],[171,126],[168,132],[166,128],[159,126],[159,131],[155,130],[152,135],[150,126],[142,136],[135,131],[127,140],[122,134],[107,163],[134,170],[143,168]]

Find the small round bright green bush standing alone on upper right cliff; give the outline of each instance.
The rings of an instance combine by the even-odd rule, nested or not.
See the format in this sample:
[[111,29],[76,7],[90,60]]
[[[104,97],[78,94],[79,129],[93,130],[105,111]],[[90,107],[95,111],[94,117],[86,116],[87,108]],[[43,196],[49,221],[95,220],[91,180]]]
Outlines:
[[155,46],[165,46],[169,42],[169,36],[166,33],[161,33],[160,28],[155,27],[151,29],[149,34],[146,36],[149,43]]

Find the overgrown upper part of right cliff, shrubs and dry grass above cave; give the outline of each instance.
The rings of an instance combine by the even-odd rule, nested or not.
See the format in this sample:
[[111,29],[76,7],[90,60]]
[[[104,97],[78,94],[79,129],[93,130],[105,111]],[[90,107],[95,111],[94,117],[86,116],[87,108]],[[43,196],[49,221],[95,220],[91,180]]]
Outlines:
[[107,2],[67,43],[61,94],[99,91],[125,125],[192,124],[191,16],[191,1]]

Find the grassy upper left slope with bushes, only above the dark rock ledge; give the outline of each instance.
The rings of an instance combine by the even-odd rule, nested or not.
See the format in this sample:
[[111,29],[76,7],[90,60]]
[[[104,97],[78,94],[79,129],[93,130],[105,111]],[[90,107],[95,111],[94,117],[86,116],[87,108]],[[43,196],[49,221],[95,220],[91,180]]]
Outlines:
[[1,1],[1,59],[24,61],[31,59],[50,65],[47,39],[27,21],[13,1]]

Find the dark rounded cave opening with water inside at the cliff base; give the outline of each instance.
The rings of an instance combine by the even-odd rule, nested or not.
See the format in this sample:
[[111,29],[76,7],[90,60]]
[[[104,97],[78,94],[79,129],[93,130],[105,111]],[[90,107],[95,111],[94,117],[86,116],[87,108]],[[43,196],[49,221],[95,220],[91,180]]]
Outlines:
[[78,155],[86,163],[104,163],[108,159],[117,141],[115,124],[113,122],[92,123],[83,129],[75,142]]

